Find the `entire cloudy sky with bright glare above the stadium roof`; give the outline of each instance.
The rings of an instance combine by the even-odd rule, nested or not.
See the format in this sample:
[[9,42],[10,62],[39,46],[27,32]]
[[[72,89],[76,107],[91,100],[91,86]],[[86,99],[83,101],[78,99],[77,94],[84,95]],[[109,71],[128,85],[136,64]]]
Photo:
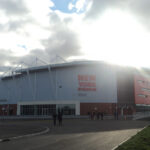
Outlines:
[[150,0],[0,0],[0,72],[57,55],[150,67]]

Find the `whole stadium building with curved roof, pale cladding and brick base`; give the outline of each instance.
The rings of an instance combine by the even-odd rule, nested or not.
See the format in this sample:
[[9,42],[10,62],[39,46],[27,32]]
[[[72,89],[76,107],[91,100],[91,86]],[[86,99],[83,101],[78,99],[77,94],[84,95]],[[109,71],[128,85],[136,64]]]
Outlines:
[[1,77],[0,115],[52,115],[58,109],[64,115],[149,111],[149,72],[78,61],[17,69]]

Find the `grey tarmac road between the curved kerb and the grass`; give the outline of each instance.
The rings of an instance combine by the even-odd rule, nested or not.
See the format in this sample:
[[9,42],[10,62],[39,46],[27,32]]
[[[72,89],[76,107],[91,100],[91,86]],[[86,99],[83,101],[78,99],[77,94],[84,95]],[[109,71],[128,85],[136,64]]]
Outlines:
[[[23,125],[49,126],[49,121],[28,121]],[[47,134],[1,142],[3,150],[111,150],[137,133],[149,121],[68,119],[63,126],[53,127]]]

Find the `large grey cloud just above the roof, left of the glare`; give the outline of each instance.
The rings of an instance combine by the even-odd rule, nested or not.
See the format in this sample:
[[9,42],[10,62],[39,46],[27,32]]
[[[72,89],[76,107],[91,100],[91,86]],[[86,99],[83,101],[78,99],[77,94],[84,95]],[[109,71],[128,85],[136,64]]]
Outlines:
[[[64,59],[81,55],[77,35],[67,28],[55,31],[50,38],[43,41],[43,45],[45,46],[44,50],[32,50],[28,55],[19,57],[17,61],[20,63],[23,60],[27,64],[35,65],[36,57],[46,63],[56,63],[62,61],[60,58],[57,59],[57,55]],[[41,64],[42,62],[39,63],[39,65]]]

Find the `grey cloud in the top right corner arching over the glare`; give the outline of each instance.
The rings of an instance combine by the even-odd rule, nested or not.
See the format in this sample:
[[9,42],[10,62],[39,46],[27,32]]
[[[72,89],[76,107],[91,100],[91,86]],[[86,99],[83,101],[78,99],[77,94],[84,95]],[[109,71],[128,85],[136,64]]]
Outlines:
[[144,25],[150,27],[150,0],[93,0],[90,10],[86,13],[86,19],[95,19],[107,9],[117,8],[130,12]]

